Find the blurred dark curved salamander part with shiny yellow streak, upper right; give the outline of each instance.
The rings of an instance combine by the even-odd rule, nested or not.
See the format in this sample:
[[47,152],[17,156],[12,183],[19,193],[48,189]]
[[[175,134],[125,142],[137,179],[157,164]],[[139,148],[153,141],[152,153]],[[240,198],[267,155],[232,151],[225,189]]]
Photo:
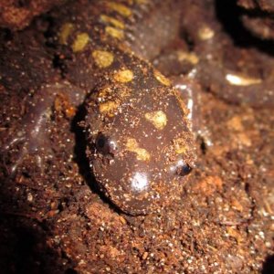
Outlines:
[[195,54],[190,58],[186,52],[195,61],[189,77],[229,102],[273,107],[274,58],[255,48],[235,47],[217,21],[214,6],[212,0],[185,2],[182,27]]

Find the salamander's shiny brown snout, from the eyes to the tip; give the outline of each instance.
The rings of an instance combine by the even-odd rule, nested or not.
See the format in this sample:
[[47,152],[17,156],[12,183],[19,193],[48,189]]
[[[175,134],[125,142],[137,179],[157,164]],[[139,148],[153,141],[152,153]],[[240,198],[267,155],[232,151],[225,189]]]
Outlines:
[[122,211],[140,215],[168,205],[191,172],[187,156],[175,155],[173,150],[172,141],[164,144],[157,138],[141,141],[131,135],[99,132],[90,142],[88,155],[104,194]]

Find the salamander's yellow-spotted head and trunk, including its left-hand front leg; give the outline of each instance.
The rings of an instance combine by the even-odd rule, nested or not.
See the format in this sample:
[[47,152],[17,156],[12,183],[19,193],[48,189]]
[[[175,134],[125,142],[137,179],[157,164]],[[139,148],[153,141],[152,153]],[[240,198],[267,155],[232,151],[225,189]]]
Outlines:
[[184,102],[170,80],[142,59],[156,56],[177,34],[179,4],[85,2],[52,15],[58,23],[48,43],[68,81],[43,84],[37,91],[23,119],[22,138],[5,145],[8,150],[23,142],[10,172],[16,173],[26,153],[39,150],[57,96],[73,108],[90,94],[84,130],[100,189],[122,211],[148,214],[178,197],[194,166]]

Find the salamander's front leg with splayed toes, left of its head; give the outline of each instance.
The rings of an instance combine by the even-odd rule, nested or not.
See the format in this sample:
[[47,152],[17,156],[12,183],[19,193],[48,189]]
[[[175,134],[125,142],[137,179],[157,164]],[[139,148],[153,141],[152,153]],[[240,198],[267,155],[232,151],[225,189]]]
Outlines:
[[85,90],[62,82],[42,86],[26,100],[23,117],[3,132],[1,161],[7,177],[14,176],[29,155],[34,155],[38,168],[43,170],[43,159],[50,158],[53,150],[50,144],[53,115],[62,111],[71,120],[85,95]]

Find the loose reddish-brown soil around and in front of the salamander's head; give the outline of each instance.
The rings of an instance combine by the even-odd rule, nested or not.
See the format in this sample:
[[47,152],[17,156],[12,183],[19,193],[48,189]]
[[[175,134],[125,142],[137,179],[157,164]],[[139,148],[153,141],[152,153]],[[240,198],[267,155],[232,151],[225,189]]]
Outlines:
[[[40,31],[36,24],[31,31]],[[6,48],[2,74],[18,68]],[[36,58],[47,64],[54,57],[37,50]],[[53,79],[51,69],[58,74],[43,73]],[[24,98],[39,84],[36,78],[18,91],[13,80],[0,86],[1,147],[9,121],[24,113]],[[161,211],[128,216],[89,173],[82,106],[71,121],[56,100],[45,126],[51,156],[26,155],[10,177],[1,155],[1,273],[274,273],[273,110],[229,104],[205,90],[199,109],[198,160],[184,192]],[[15,159],[16,148],[7,161]]]

